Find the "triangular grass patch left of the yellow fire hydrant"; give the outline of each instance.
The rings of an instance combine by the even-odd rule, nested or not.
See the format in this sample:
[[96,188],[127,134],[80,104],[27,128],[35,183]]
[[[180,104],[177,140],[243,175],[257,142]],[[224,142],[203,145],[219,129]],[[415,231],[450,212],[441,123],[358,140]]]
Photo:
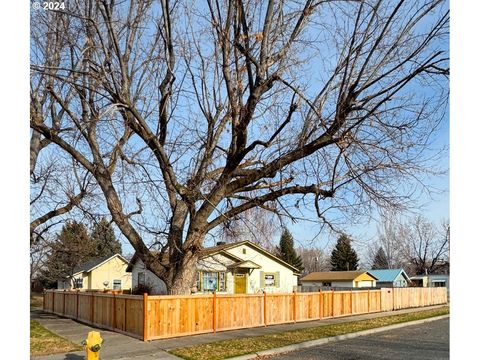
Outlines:
[[45,329],[35,320],[30,320],[30,356],[82,350],[74,344]]

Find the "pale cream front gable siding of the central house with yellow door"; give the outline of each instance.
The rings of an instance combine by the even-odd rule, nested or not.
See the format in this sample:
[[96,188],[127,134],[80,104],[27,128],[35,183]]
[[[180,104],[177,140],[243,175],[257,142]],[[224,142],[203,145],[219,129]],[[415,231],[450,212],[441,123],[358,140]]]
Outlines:
[[[245,250],[245,253],[244,253]],[[279,293],[279,292],[292,292],[294,286],[297,286],[297,276],[293,274],[293,271],[282,265],[281,263],[273,260],[271,257],[263,255],[258,252],[253,247],[245,245],[240,245],[227,250],[230,254],[235,255],[244,260],[250,260],[254,263],[261,266],[261,269],[253,269],[248,275],[248,294],[260,293],[263,290],[270,293]],[[267,286],[262,287],[261,285],[261,275],[263,273],[278,273],[279,274],[279,284],[278,287]],[[233,285],[233,278],[232,278]],[[233,286],[230,287],[233,290]]]

